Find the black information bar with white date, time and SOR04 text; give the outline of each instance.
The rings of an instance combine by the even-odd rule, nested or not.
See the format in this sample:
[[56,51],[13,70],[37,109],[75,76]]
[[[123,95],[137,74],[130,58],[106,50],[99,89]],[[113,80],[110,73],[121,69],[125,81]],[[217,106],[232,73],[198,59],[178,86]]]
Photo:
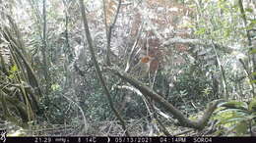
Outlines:
[[[4,140],[5,139],[5,140]],[[6,137],[0,143],[256,143],[256,137]]]

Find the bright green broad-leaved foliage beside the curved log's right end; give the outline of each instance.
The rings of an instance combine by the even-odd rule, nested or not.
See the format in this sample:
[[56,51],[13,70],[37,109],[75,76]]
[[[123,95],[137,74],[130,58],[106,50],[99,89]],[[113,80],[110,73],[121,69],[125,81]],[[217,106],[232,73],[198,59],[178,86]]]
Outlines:
[[250,125],[256,123],[256,112],[252,110],[255,106],[255,99],[249,105],[238,101],[224,102],[219,105],[213,119],[219,120],[217,125],[224,126],[225,132],[233,132],[235,136],[245,135]]

